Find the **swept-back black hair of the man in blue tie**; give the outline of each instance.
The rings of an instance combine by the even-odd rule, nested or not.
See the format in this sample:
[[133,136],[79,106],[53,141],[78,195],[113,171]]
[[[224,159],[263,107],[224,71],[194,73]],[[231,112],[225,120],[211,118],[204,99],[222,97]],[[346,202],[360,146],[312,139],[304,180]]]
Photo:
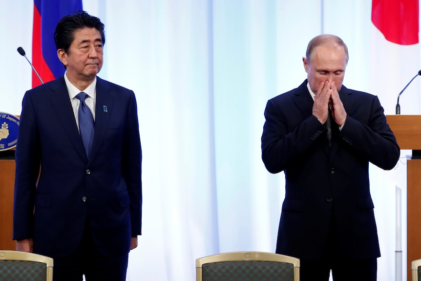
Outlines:
[[75,39],[75,31],[83,28],[95,28],[101,34],[103,45],[105,44],[104,23],[97,17],[91,16],[85,11],[77,11],[75,14],[63,17],[57,23],[54,32],[54,43],[56,48],[63,49],[69,54],[69,48]]

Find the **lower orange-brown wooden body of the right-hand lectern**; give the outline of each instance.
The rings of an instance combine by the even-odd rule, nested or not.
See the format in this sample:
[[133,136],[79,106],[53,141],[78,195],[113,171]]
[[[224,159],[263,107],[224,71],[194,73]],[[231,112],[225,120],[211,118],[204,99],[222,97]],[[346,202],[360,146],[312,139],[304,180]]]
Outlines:
[[421,160],[407,160],[407,276],[411,261],[421,259]]

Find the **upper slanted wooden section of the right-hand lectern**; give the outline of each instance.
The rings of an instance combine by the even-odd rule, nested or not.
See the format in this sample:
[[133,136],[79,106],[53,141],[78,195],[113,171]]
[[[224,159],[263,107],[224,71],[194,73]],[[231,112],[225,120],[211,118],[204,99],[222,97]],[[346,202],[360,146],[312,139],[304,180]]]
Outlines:
[[387,115],[400,149],[421,150],[421,115]]

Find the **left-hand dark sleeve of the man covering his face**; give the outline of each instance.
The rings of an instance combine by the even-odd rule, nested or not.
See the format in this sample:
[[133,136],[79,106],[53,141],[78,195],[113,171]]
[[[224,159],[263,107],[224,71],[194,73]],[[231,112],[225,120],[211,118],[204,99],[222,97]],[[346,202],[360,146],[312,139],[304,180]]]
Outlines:
[[[288,103],[288,101],[286,101]],[[292,105],[282,110],[273,100],[265,109],[265,125],[262,134],[262,160],[270,173],[279,173],[288,165],[299,161],[300,156],[311,150],[326,135],[326,128],[309,114],[302,117],[301,112]]]

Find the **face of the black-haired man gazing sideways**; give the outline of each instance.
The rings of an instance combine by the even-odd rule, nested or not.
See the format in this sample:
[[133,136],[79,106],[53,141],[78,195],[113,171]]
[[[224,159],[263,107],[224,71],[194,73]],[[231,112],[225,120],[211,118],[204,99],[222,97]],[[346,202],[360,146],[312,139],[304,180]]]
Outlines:
[[66,66],[69,80],[92,80],[103,65],[103,44],[100,32],[95,28],[76,30],[68,54],[63,49],[59,49],[58,55]]

